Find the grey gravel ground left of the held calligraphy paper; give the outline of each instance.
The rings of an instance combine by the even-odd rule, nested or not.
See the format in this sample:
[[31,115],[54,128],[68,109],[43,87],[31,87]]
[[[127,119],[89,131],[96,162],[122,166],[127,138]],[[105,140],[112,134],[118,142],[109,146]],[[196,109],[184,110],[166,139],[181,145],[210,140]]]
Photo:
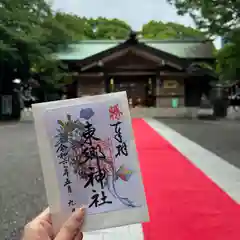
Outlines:
[[19,240],[47,206],[33,124],[1,125],[0,152],[0,239]]

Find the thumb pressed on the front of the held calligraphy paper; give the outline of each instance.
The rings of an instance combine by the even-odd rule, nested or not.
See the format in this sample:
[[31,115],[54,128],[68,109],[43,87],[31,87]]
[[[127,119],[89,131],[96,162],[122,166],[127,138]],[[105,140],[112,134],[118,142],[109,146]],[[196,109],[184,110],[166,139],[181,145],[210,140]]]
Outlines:
[[55,240],[72,240],[79,232],[84,220],[84,209],[76,209],[72,216],[63,224]]

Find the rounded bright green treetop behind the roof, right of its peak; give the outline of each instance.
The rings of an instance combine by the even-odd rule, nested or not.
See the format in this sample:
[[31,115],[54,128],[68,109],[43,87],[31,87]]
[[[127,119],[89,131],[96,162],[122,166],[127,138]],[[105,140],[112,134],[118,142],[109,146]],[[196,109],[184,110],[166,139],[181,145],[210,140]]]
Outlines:
[[143,25],[142,35],[149,39],[186,39],[186,38],[204,38],[201,31],[186,27],[178,23],[163,23],[161,21],[150,21]]

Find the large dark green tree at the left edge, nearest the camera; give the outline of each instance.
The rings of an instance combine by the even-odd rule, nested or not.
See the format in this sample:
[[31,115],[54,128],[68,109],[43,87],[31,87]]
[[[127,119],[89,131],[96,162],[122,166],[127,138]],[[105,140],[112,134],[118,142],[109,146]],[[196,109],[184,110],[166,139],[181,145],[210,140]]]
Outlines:
[[28,80],[34,67],[52,68],[51,55],[59,43],[69,39],[68,32],[44,0],[1,0],[0,16],[0,94],[13,95],[19,116],[13,80]]

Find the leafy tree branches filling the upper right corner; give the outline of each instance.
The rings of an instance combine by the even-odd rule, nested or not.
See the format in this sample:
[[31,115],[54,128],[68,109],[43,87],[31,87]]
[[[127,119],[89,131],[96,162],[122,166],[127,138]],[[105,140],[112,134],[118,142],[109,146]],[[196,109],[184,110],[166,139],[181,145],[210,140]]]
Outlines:
[[209,36],[224,37],[229,44],[219,50],[217,71],[223,80],[235,80],[240,69],[240,1],[168,0],[178,14],[189,14],[197,27]]

